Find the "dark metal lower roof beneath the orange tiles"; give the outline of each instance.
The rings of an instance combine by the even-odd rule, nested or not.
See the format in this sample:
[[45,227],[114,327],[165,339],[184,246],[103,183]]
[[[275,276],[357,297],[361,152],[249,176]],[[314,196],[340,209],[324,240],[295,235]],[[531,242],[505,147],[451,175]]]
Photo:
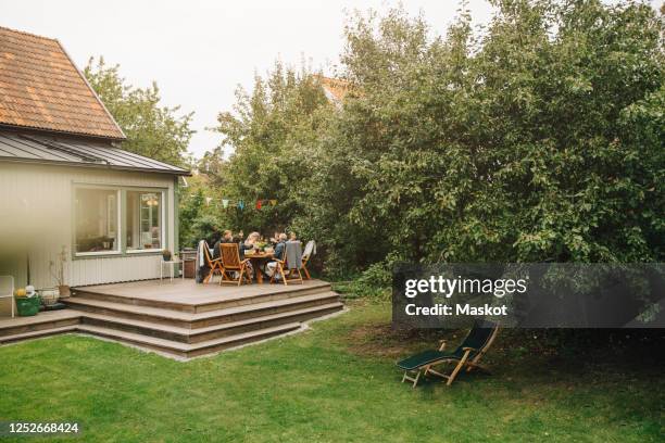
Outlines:
[[0,132],[0,161],[190,175],[186,169],[104,141],[12,131]]

